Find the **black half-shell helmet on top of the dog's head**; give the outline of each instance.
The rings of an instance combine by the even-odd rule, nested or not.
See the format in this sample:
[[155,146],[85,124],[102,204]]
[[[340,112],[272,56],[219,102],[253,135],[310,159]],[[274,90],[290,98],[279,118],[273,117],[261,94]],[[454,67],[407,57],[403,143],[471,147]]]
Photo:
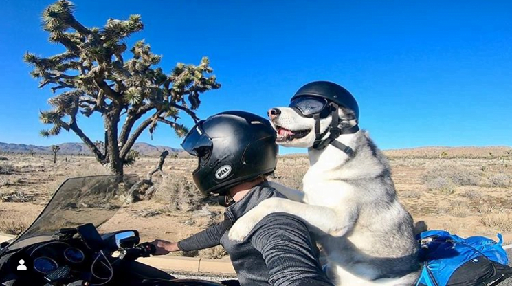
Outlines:
[[307,83],[300,87],[291,98],[291,101],[300,96],[325,98],[341,107],[346,107],[354,111],[355,118],[359,121],[359,105],[357,105],[354,96],[341,85],[329,81],[313,81],[312,83]]

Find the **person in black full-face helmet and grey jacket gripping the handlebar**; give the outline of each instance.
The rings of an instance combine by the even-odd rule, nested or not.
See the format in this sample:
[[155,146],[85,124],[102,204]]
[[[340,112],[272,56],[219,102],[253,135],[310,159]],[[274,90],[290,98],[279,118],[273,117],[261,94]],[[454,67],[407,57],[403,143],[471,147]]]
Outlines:
[[228,111],[201,120],[181,146],[198,157],[192,172],[204,195],[227,206],[221,223],[178,243],[155,240],[156,255],[223,245],[241,285],[333,285],[322,272],[307,225],[290,214],[270,214],[244,241],[227,234],[239,217],[269,197],[284,197],[267,184],[278,146],[270,123],[258,115]]

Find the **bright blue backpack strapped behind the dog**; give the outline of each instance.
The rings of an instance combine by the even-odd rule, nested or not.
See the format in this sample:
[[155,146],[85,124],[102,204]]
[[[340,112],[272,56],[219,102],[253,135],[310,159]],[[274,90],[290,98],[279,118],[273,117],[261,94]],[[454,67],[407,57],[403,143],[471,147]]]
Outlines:
[[498,285],[512,276],[501,234],[498,243],[483,236],[463,239],[444,230],[422,232],[416,239],[423,263],[416,286]]

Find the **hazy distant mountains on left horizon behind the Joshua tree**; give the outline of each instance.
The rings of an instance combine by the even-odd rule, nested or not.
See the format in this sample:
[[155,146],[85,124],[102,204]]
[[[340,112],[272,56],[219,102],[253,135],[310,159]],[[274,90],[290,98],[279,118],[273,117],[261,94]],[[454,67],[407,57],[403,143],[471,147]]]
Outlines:
[[[56,145],[60,146],[60,151],[58,151],[58,153],[62,155],[92,155],[91,151],[89,151],[89,148],[87,148],[87,146],[85,146],[83,143],[63,143]],[[147,143],[135,143],[132,149],[139,152],[143,156],[149,157],[157,157],[164,150],[167,150],[170,153],[183,152],[183,149],[172,148],[168,146],[153,146]],[[52,146],[36,146],[0,142],[0,152],[29,153],[30,150],[34,150],[36,154],[51,154]]]

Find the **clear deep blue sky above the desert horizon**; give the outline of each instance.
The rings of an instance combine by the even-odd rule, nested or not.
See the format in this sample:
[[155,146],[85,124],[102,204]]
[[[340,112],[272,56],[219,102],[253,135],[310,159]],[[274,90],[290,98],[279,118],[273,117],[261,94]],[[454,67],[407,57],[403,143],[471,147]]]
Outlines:
[[[53,1],[2,1],[0,141],[50,139],[38,111],[49,89],[37,89],[25,51],[61,52],[41,30]],[[203,95],[201,118],[230,109],[265,115],[304,83],[332,80],[357,98],[360,125],[381,148],[512,145],[512,1],[74,1],[76,18],[102,26],[141,14],[146,39],[166,71],[209,56],[219,81]],[[185,120],[189,126],[190,120]],[[80,120],[93,140],[100,118]],[[178,146],[160,126],[154,140]],[[282,153],[297,152],[282,148]]]

